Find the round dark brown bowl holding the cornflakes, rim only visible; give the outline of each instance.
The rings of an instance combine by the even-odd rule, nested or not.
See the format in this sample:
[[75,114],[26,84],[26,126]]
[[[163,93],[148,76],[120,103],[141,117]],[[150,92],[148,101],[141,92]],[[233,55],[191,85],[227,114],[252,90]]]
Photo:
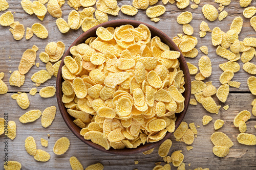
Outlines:
[[[64,104],[61,101],[62,98],[62,91],[61,91],[61,83],[64,81],[62,76],[61,76],[61,67],[63,66],[64,62],[63,59],[66,56],[71,55],[70,53],[70,48],[73,45],[78,45],[80,43],[84,43],[84,41],[89,38],[89,37],[96,37],[96,29],[98,27],[120,27],[122,25],[132,25],[134,27],[138,27],[141,23],[140,21],[135,21],[135,20],[113,20],[113,21],[109,21],[109,22],[105,22],[105,23],[101,23],[100,25],[93,27],[92,29],[88,30],[87,32],[84,32],[82,35],[80,35],[69,47],[68,51],[65,53],[65,55],[62,57],[62,61],[60,63],[60,67],[59,67],[59,71],[58,71],[58,76],[57,76],[57,82],[56,82],[56,96],[57,96],[57,101],[58,101],[58,107],[60,110],[60,113],[65,121],[65,123],[67,124],[67,126],[69,127],[69,129],[76,135],[76,137],[78,137],[81,141],[83,141],[84,143],[88,144],[90,147],[97,149],[99,151],[105,152],[105,153],[110,153],[110,154],[117,154],[117,155],[130,155],[130,154],[136,154],[136,153],[141,153],[147,150],[150,150],[152,148],[157,147],[158,145],[160,145],[164,140],[168,139],[170,137],[170,135],[172,135],[172,133],[166,133],[166,136],[158,141],[158,142],[154,142],[154,143],[145,143],[144,145],[140,145],[138,148],[135,149],[127,149],[124,148],[122,150],[115,150],[113,148],[111,148],[110,150],[105,150],[103,147],[100,147],[98,144],[95,144],[93,142],[91,142],[91,140],[86,140],[83,138],[83,136],[80,135],[80,130],[81,128],[79,128],[78,126],[76,126],[73,123],[74,117],[70,116],[69,113],[67,112],[67,108],[64,106]],[[146,23],[143,23],[144,25],[146,25],[152,34],[152,37],[154,36],[158,36],[160,37],[161,41],[165,44],[167,44],[170,47],[170,50],[174,50],[174,51],[179,51],[178,46],[167,36],[165,35],[162,31],[158,30],[157,28],[148,25]],[[187,108],[188,108],[188,104],[189,104],[189,100],[190,100],[190,92],[191,92],[191,83],[190,83],[190,75],[189,75],[189,70],[186,64],[186,61],[184,59],[184,56],[181,54],[181,56],[179,57],[179,62],[180,62],[180,68],[181,70],[183,70],[184,72],[184,79],[185,79],[185,91],[183,92],[183,96],[185,98],[185,108],[181,113],[177,114],[177,120],[176,120],[176,129],[178,128],[178,126],[180,125],[180,123],[182,122]]]

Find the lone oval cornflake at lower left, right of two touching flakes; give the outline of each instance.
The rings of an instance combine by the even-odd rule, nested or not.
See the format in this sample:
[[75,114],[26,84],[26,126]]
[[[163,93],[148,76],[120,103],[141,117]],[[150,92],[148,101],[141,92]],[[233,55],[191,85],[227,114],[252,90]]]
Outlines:
[[53,152],[56,155],[62,155],[69,149],[70,141],[67,137],[61,137],[59,138],[53,147]]

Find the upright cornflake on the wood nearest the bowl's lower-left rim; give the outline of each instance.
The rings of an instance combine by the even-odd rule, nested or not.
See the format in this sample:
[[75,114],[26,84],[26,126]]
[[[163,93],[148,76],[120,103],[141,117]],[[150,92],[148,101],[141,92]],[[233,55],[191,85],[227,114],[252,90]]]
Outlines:
[[55,106],[50,106],[48,108],[46,108],[43,112],[42,112],[42,116],[41,116],[41,125],[44,128],[49,127],[54,118],[55,118],[55,114],[56,114],[56,107]]

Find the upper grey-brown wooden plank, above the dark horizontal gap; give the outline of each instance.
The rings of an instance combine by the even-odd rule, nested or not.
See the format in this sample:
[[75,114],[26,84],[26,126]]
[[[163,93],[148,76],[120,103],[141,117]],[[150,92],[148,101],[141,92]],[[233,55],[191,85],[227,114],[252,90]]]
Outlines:
[[[42,40],[37,38],[35,35],[30,39],[26,40],[23,38],[20,41],[15,41],[12,37],[12,34],[9,31],[9,27],[3,27],[0,26],[1,32],[0,36],[3,37],[4,41],[0,42],[0,61],[1,61],[1,68],[0,71],[4,71],[6,73],[6,76],[4,78],[4,82],[8,84],[8,88],[10,92],[17,92],[17,91],[29,91],[30,88],[34,87],[33,82],[30,80],[31,76],[34,74],[34,72],[40,70],[40,69],[45,69],[45,63],[42,63],[39,58],[36,58],[36,63],[39,62],[40,66],[37,68],[36,66],[33,66],[32,69],[26,74],[26,81],[25,84],[20,87],[11,87],[8,83],[10,74],[9,70],[17,70],[18,64],[20,61],[20,58],[22,57],[22,54],[25,50],[28,48],[31,48],[33,44],[37,45],[39,47],[39,50],[37,52],[37,56],[39,56],[40,52],[44,51],[45,46],[47,45],[48,42],[51,41],[63,41],[66,44],[66,50],[68,47],[71,45],[71,43],[80,35],[83,33],[81,29],[79,30],[70,30],[66,34],[62,34],[59,32],[58,28],[56,27],[55,20],[56,18],[53,18],[49,13],[46,14],[46,17],[43,21],[40,21],[37,19],[35,15],[30,16],[27,14],[22,7],[20,6],[18,1],[9,1],[10,8],[8,10],[15,12],[14,18],[15,21],[19,21],[22,23],[25,28],[30,27],[33,25],[35,22],[42,23],[48,31],[49,31],[49,37],[46,40]],[[118,5],[121,7],[124,4],[130,4],[132,5],[131,1],[120,1],[118,2]],[[161,2],[158,2],[158,4],[162,4]],[[160,29],[163,31],[165,34],[167,34],[169,37],[174,37],[177,36],[177,33],[182,33],[182,25],[179,25],[176,21],[177,16],[184,11],[190,11],[193,13],[193,20],[190,22],[190,25],[194,27],[194,36],[198,38],[198,44],[197,48],[199,50],[199,47],[202,45],[206,45],[209,48],[209,58],[211,59],[212,62],[212,75],[206,79],[206,81],[212,81],[213,85],[215,85],[217,88],[221,85],[219,83],[219,76],[222,74],[222,70],[219,68],[219,64],[227,62],[226,59],[221,58],[216,54],[216,47],[211,44],[211,33],[207,33],[207,35],[204,38],[199,37],[199,26],[202,20],[206,21],[210,27],[210,29],[213,29],[214,27],[218,26],[220,27],[224,32],[227,32],[229,30],[229,25],[231,24],[232,20],[234,17],[237,16],[242,16],[243,9],[239,7],[239,2],[238,1],[233,1],[231,4],[227,7],[225,7],[224,10],[226,10],[229,15],[227,18],[225,18],[222,21],[219,21],[218,19],[214,22],[210,22],[206,20],[201,12],[202,6],[206,3],[200,3],[199,7],[197,9],[190,9],[187,7],[185,10],[180,10],[176,7],[176,5],[171,5],[167,4],[166,7],[166,12],[160,16],[161,20],[157,23],[150,21],[150,18],[148,18],[145,15],[145,10],[139,10],[138,14],[135,15],[134,17],[132,16],[127,16],[119,12],[119,16],[110,16],[109,15],[109,20],[115,20],[115,19],[135,19],[139,20],[142,22],[150,23],[154,27]],[[218,4],[214,2],[209,2],[209,4],[214,5],[216,8],[218,8]],[[255,6],[256,2],[252,2],[251,5]],[[95,6],[94,6],[95,7]],[[72,10],[71,7],[67,5],[63,5],[61,7],[62,9],[62,17],[63,19],[67,20],[68,19],[68,14]],[[80,8],[82,10],[82,8]],[[1,11],[0,14],[4,13],[4,11]],[[241,34],[239,35],[239,39],[243,40],[245,37],[256,36],[256,32],[250,27],[249,24],[249,19],[244,18],[244,25]],[[228,25],[228,26],[227,26]],[[194,58],[194,59],[189,59],[186,58],[187,62],[190,62],[192,64],[195,64],[198,66],[198,60],[201,56],[204,54],[199,50],[199,55]],[[8,57],[11,57],[10,59]],[[256,62],[256,59],[253,58],[252,62]],[[230,91],[249,91],[247,87],[247,79],[251,75],[249,75],[247,72],[245,72],[242,69],[243,63],[239,61],[239,64],[241,66],[241,70],[237,72],[233,78],[233,81],[239,81],[241,82],[241,87],[239,89],[237,88],[230,88]],[[192,76],[194,79],[194,76]],[[41,87],[49,86],[49,85],[54,85],[56,79],[53,78],[46,83],[42,84]]]

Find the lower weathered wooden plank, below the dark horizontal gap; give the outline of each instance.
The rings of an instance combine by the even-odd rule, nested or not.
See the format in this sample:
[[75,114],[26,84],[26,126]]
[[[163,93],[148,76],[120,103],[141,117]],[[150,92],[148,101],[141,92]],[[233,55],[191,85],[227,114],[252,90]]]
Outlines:
[[[1,97],[1,114],[8,113],[8,120],[14,120],[17,126],[17,136],[11,141],[8,140],[8,156],[9,160],[16,160],[22,163],[24,169],[70,169],[69,158],[76,156],[84,167],[101,162],[104,165],[104,169],[152,169],[155,166],[155,162],[162,162],[163,159],[158,155],[158,149],[150,155],[135,154],[131,156],[118,156],[102,153],[88,145],[81,142],[76,136],[68,129],[65,122],[57,109],[56,117],[52,125],[48,128],[43,128],[40,123],[40,118],[33,123],[22,124],[19,122],[19,116],[23,115],[26,111],[32,109],[39,109],[44,111],[46,107],[56,106],[57,102],[55,98],[42,99],[37,93],[35,96],[29,95],[30,107],[27,110],[23,110],[18,107],[15,100],[10,98],[11,94],[4,94]],[[216,100],[216,99],[215,99]],[[193,144],[194,149],[187,151],[186,144],[183,142],[177,142],[172,136],[173,146],[168,155],[171,155],[175,150],[182,150],[184,154],[184,162],[186,169],[194,169],[196,167],[209,167],[210,169],[255,169],[256,168],[256,148],[255,146],[246,146],[239,144],[236,137],[239,134],[238,128],[233,125],[233,118],[242,110],[251,111],[250,105],[253,100],[251,94],[235,93],[230,94],[225,104],[230,108],[225,111],[220,109],[219,114],[211,114],[203,109],[201,104],[197,106],[189,106],[184,121],[189,123],[195,123],[199,125],[198,138],[195,138]],[[224,105],[223,105],[224,106]],[[204,115],[210,115],[213,120],[206,126],[202,125],[202,117]],[[214,145],[210,141],[210,136],[215,132],[214,122],[216,119],[223,119],[225,121],[224,126],[217,130],[227,134],[227,136],[233,141],[234,145],[230,149],[230,153],[225,158],[216,157],[212,153],[212,147]],[[253,127],[256,125],[256,118],[252,117],[247,122],[247,132],[255,134],[256,129]],[[50,134],[49,145],[44,148],[40,144],[40,138],[47,139],[47,134]],[[42,149],[50,153],[51,159],[48,162],[37,162],[32,156],[26,153],[24,148],[24,141],[28,136],[33,136],[36,140],[37,149]],[[55,155],[52,151],[54,143],[60,137],[66,136],[70,139],[70,148],[63,155]],[[4,142],[4,137],[0,137],[0,143]],[[2,145],[1,145],[2,146]],[[3,148],[1,148],[2,150]],[[3,157],[4,152],[0,152],[0,156]],[[139,164],[135,165],[134,160],[138,160]],[[188,163],[191,166],[188,167]],[[3,167],[3,161],[0,161],[0,167]],[[173,169],[172,165],[172,169]]]

